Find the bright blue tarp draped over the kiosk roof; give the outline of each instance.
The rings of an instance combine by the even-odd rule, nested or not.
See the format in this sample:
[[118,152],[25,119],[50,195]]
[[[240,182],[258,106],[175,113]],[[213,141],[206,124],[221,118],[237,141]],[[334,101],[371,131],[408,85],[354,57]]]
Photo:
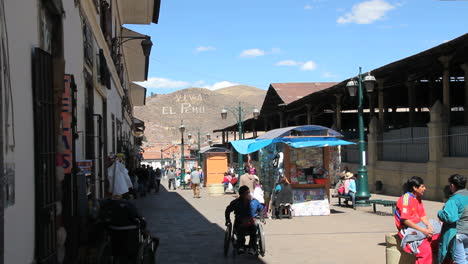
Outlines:
[[258,151],[270,144],[283,142],[293,148],[328,147],[339,145],[352,145],[354,142],[341,140],[335,137],[290,137],[274,139],[247,139],[231,141],[232,146],[241,154]]

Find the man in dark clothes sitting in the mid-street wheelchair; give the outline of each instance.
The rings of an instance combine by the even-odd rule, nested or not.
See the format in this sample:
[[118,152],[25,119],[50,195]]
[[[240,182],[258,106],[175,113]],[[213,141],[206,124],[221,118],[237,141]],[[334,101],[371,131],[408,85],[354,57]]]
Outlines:
[[239,198],[232,201],[224,213],[226,218],[226,226],[231,225],[231,212],[234,212],[234,233],[237,235],[237,252],[239,254],[245,252],[245,237],[249,236],[248,253],[256,253],[256,226],[255,217],[259,216],[259,212],[263,211],[263,205],[256,199],[252,199],[250,189],[247,186],[239,188]]

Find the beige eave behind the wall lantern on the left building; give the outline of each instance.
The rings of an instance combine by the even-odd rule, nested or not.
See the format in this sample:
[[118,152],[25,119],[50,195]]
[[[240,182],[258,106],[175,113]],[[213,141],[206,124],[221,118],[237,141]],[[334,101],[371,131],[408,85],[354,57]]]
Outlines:
[[[122,28],[122,36],[132,38],[144,38],[146,35],[140,34],[128,28]],[[128,70],[128,77],[132,82],[142,82],[148,79],[149,57],[143,54],[141,42],[143,39],[131,39],[123,44],[125,64]]]

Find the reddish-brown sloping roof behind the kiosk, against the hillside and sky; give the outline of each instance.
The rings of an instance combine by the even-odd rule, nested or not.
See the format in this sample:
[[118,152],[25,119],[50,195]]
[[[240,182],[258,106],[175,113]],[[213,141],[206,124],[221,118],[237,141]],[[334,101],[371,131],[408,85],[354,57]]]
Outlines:
[[306,95],[330,88],[335,84],[337,82],[272,83],[270,86],[275,89],[285,104],[290,104]]

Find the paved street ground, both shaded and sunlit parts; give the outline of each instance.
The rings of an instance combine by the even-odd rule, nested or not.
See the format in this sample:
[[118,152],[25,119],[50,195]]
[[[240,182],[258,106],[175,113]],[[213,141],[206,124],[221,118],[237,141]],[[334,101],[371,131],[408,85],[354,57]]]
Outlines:
[[[167,183],[164,183],[167,186]],[[385,234],[396,233],[391,208],[338,207],[330,216],[267,220],[267,254],[263,258],[223,256],[224,209],[232,195],[193,198],[191,190],[167,191],[136,201],[150,231],[161,240],[157,263],[385,263]],[[398,197],[373,195],[372,199]],[[442,203],[425,201],[429,217]]]

